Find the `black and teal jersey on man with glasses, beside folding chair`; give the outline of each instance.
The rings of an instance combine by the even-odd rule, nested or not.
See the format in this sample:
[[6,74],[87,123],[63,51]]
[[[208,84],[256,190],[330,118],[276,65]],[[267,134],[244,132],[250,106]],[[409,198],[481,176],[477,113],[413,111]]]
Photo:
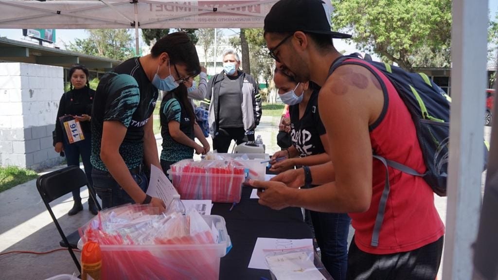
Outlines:
[[104,122],[118,121],[126,128],[120,154],[128,168],[143,161],[143,127],[152,117],[158,91],[143,71],[138,57],[130,58],[100,80],[92,111],[92,155],[94,168],[108,171],[100,158]]

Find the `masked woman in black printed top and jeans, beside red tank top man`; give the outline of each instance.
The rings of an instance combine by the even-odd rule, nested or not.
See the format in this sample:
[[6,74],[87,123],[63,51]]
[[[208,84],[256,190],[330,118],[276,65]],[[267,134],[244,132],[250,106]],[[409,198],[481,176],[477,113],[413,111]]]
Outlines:
[[[289,105],[292,145],[272,156],[270,171],[283,172],[295,165],[310,166],[330,161],[327,132],[318,112],[318,89],[310,83],[297,83],[275,69],[273,81],[280,99]],[[321,107],[327,109],[327,107]],[[284,158],[277,162],[277,158]],[[348,233],[351,219],[344,213],[309,211],[322,263],[335,280],[346,279]]]

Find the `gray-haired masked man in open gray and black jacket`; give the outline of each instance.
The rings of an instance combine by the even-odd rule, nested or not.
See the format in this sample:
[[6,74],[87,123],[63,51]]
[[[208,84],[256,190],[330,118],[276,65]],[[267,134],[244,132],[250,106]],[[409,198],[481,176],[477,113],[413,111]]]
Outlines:
[[213,150],[228,152],[230,142],[254,141],[261,119],[261,95],[254,78],[239,70],[241,60],[232,49],[223,54],[223,71],[211,78],[205,104],[209,104],[209,133]]

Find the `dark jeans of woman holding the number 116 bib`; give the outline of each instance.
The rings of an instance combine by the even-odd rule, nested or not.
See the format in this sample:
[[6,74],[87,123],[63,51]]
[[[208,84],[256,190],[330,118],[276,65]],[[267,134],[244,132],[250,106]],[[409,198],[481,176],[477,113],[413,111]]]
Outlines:
[[[90,133],[85,134],[85,140],[69,143],[67,137],[63,137],[64,141],[64,153],[66,155],[67,166],[76,165],[80,166],[80,155],[83,161],[83,166],[85,166],[85,175],[87,175],[88,183],[92,186],[92,163],[90,163],[90,154],[92,137]],[[81,201],[80,190],[73,190],[74,201]]]

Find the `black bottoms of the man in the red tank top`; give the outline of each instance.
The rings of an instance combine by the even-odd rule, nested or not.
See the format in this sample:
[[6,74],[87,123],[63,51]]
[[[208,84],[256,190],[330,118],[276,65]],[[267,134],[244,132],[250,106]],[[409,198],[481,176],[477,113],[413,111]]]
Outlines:
[[[353,239],[354,240],[354,239]],[[409,252],[373,255],[351,242],[347,280],[434,280],[436,279],[444,237]]]

